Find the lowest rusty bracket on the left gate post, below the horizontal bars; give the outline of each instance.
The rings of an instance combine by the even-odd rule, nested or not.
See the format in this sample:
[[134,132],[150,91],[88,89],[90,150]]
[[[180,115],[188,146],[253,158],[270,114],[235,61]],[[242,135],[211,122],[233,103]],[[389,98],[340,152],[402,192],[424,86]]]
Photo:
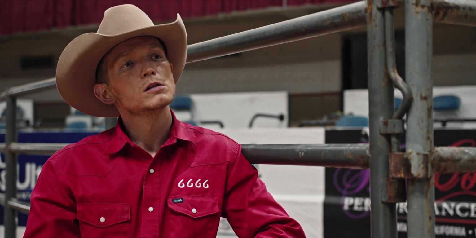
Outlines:
[[407,200],[407,190],[405,188],[405,180],[401,178],[383,178],[380,180],[380,188],[382,189],[382,202],[397,203]]

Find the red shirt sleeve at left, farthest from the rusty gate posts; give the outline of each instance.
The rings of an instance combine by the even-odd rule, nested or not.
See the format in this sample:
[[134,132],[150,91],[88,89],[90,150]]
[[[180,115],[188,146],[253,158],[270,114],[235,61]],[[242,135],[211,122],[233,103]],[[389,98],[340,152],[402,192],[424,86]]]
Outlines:
[[53,158],[46,161],[31,193],[31,207],[24,238],[78,238],[76,203],[66,186],[60,183]]

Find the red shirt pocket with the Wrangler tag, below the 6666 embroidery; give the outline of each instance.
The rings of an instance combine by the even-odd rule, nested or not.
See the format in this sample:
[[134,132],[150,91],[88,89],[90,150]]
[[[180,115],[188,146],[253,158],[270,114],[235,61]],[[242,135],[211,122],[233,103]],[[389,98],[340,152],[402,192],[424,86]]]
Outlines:
[[177,195],[167,198],[165,234],[169,237],[215,238],[220,222],[218,198]]

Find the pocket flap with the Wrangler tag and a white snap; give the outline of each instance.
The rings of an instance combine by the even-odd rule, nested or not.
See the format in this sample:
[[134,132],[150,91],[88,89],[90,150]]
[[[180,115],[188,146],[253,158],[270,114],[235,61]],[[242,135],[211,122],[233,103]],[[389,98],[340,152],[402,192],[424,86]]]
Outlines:
[[170,209],[192,218],[204,217],[219,211],[218,198],[214,197],[178,195],[167,198],[167,204]]

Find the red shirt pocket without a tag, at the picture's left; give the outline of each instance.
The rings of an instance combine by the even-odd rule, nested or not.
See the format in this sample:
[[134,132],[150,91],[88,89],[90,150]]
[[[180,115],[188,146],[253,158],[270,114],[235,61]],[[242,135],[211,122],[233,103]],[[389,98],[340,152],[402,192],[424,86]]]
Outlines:
[[130,204],[79,203],[81,238],[130,237]]

